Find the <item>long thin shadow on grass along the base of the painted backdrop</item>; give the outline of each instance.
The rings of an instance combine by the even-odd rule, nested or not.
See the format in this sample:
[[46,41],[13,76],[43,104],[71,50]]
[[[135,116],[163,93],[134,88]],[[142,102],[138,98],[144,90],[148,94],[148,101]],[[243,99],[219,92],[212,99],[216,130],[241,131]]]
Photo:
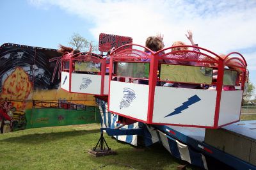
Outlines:
[[68,132],[35,133],[35,134],[28,134],[28,135],[19,135],[15,137],[8,137],[0,140],[0,143],[6,142],[6,143],[40,144],[40,143],[47,143],[49,141],[57,141],[65,137],[75,137],[78,135],[95,134],[99,132],[100,130],[93,129],[93,130],[72,130]]

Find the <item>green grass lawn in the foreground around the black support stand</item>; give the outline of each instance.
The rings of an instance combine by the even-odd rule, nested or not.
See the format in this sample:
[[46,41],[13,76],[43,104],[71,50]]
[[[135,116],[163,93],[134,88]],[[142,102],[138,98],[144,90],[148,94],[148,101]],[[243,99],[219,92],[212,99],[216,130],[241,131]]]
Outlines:
[[199,169],[172,157],[161,145],[135,148],[104,135],[117,155],[93,157],[99,124],[32,128],[0,134],[0,169]]

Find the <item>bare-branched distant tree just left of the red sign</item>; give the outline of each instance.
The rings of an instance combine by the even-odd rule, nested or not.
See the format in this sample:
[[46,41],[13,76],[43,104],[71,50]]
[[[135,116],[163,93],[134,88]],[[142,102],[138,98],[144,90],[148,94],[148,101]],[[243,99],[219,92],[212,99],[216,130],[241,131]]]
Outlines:
[[74,49],[79,49],[84,52],[89,51],[91,47],[92,52],[99,51],[97,49],[97,45],[93,45],[92,42],[89,43],[88,40],[86,40],[86,38],[84,38],[83,36],[79,35],[79,33],[74,33],[71,36],[69,44],[72,45]]

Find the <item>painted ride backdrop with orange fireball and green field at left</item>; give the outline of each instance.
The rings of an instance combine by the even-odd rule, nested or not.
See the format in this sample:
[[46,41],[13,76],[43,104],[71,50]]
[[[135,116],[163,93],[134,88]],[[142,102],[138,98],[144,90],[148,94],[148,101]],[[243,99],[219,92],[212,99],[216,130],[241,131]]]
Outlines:
[[12,102],[13,130],[95,123],[93,95],[60,88],[61,54],[55,49],[4,43],[0,47],[0,107]]

